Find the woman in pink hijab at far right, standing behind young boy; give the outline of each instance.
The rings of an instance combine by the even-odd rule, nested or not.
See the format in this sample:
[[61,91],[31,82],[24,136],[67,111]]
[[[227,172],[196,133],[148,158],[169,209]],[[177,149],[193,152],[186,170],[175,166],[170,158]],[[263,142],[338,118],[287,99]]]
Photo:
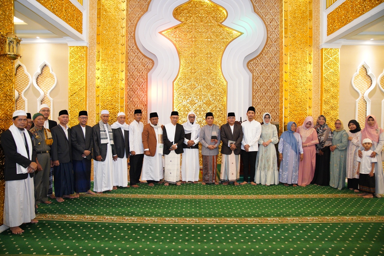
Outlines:
[[[381,151],[384,146],[384,133],[383,129],[377,125],[377,119],[374,115],[368,115],[365,118],[364,129],[361,130],[361,141],[363,139],[371,139],[372,147],[371,157],[376,156],[377,163],[381,163]],[[359,150],[359,157],[362,157],[361,151],[363,150],[362,145]],[[380,194],[384,194],[384,175],[382,164],[375,164],[375,179],[376,179],[376,197],[381,197]]]

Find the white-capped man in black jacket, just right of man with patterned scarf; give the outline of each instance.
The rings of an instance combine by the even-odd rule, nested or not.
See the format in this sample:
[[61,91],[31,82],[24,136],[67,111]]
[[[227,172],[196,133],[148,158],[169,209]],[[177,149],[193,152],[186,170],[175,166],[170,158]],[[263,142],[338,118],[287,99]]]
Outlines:
[[128,186],[129,125],[124,112],[118,113],[118,120],[111,125],[113,142],[118,158],[113,161],[113,189]]

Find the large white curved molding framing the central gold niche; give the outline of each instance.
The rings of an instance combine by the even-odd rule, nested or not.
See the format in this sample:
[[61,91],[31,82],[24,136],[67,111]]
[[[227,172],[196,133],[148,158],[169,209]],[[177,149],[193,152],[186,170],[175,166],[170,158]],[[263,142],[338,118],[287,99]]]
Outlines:
[[[180,24],[173,17],[173,10],[185,2],[187,0],[152,0],[136,26],[137,46],[155,62],[148,74],[148,112],[157,112],[161,122],[168,122],[172,111],[173,81],[179,71],[179,56],[172,42],[159,32]],[[254,13],[250,0],[212,2],[227,10],[223,25],[243,33],[228,44],[222,57],[227,94],[243,99],[227,102],[227,109],[240,116],[252,105],[252,74],[247,69],[247,62],[262,51],[266,27]]]

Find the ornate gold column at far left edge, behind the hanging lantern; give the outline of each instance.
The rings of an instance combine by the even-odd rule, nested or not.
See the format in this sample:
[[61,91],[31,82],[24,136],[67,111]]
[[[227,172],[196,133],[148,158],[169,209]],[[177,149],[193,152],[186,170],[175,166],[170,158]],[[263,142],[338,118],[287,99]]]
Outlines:
[[[0,32],[13,33],[13,0],[0,1]],[[12,124],[12,113],[15,111],[14,74],[13,62],[0,55],[0,134]],[[0,147],[0,224],[3,223],[4,209],[4,160]]]

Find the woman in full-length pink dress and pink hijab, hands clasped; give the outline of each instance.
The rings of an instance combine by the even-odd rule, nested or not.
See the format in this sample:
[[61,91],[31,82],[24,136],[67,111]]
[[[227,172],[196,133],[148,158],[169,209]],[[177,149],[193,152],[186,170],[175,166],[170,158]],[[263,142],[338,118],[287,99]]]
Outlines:
[[313,128],[313,117],[307,117],[302,126],[296,130],[303,141],[304,159],[299,165],[298,185],[305,187],[309,185],[313,179],[314,168],[316,163],[316,147],[319,143],[316,130]]

